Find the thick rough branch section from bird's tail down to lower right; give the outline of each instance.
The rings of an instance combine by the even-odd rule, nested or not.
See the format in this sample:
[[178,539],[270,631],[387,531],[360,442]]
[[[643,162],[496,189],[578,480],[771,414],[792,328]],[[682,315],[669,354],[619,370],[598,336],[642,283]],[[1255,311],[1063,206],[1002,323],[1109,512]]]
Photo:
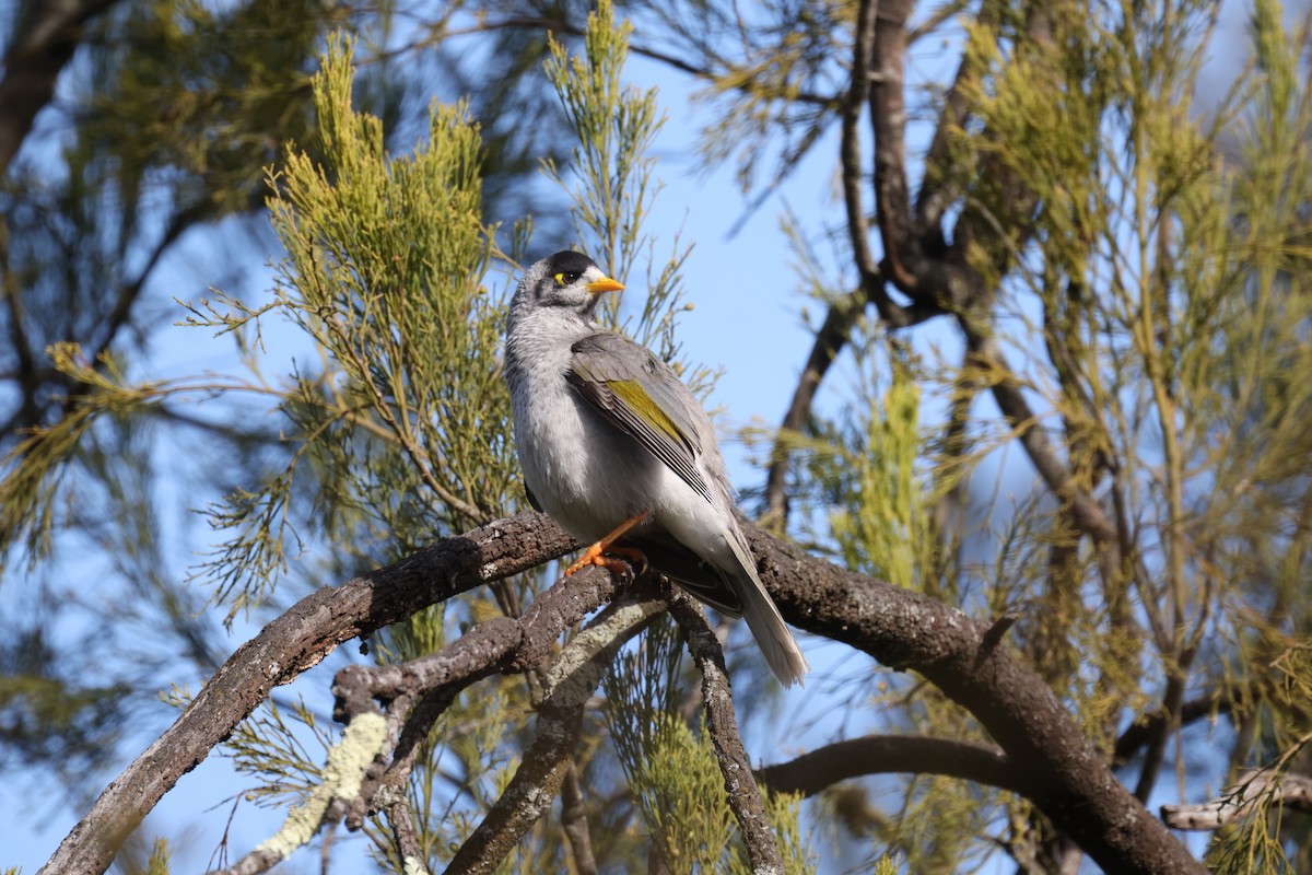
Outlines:
[[884,665],[914,669],[974,714],[1027,796],[1106,871],[1204,871],[1122,786],[1046,683],[1006,648],[977,659],[988,626],[926,596],[855,575],[745,525],[785,619]]

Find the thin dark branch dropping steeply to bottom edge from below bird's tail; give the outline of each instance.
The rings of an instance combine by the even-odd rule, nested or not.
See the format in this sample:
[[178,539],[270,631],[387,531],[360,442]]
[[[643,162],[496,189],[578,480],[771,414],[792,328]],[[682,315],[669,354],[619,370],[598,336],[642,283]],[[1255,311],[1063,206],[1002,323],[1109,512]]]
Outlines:
[[733,715],[733,694],[724,669],[724,652],[715,630],[691,596],[676,589],[670,594],[669,613],[687,639],[687,649],[702,673],[702,698],[706,702],[706,728],[715,746],[715,761],[724,774],[724,794],[739,821],[748,862],[756,875],[783,875],[783,858],[774,840],[774,829],[765,816],[761,791],[752,774],[743,739]]

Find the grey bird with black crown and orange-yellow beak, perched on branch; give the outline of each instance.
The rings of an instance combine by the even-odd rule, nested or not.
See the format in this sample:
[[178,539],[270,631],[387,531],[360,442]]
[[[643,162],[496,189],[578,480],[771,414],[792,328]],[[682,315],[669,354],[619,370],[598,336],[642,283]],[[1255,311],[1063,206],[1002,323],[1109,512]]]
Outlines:
[[[646,558],[697,598],[745,617],[786,686],[808,670],[733,518],[724,459],[701,404],[665,362],[593,319],[623,285],[577,252],[525,272],[506,320],[505,379],[529,501],[588,551]],[[639,555],[640,554],[640,555]]]

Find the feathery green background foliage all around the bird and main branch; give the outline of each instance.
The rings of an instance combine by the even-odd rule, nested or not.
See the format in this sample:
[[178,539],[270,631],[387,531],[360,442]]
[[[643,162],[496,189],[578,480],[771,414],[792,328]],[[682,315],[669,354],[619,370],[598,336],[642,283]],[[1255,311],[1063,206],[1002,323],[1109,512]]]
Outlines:
[[[880,28],[892,8],[879,4]],[[146,630],[168,655],[156,665],[185,653],[207,674],[222,661],[213,614],[171,579],[171,538],[218,540],[193,572],[231,627],[518,509],[497,350],[530,244],[547,252],[567,244],[543,237],[572,235],[635,286],[647,265],[643,306],[615,296],[606,319],[705,392],[714,374],[682,361],[676,337],[691,248],[676,239],[657,256],[665,244],[644,224],[666,118],[655,89],[626,85],[625,60],[674,59],[698,77],[714,117],[703,163],[732,164],[758,209],[825,147],[851,94],[890,87],[880,70],[853,88],[862,9],[631,4],[634,26],[601,3],[583,26],[577,4],[420,14],[184,0],[93,17],[96,50],[70,79],[76,113],[58,136],[38,131],[56,148],[29,148],[0,201],[0,329],[22,341],[0,352],[13,387],[0,550],[39,590],[30,614],[0,619],[4,765],[63,763],[70,784],[100,766],[159,672],[96,669],[131,661],[115,651],[136,653]],[[1224,71],[1228,93],[1204,104],[1225,92],[1206,63],[1216,14],[1198,0],[985,1],[926,9],[899,31],[924,52],[912,60],[930,56],[930,38],[960,51],[955,73],[907,66],[911,129],[896,139],[922,159],[909,173],[922,186],[920,254],[971,282],[937,302],[938,333],[899,327],[865,308],[872,281],[850,228],[870,210],[794,224],[798,285],[829,316],[858,316],[834,346],[846,388],[830,376],[795,430],[766,437],[769,463],[800,463],[787,534],[1005,621],[1002,647],[1109,760],[1123,756],[1120,777],[1144,800],[1224,786],[1246,767],[1305,771],[1312,731],[1307,33],[1286,31],[1275,0],[1254,0],[1246,66]],[[407,16],[422,24],[401,33]],[[323,34],[341,24],[358,35],[329,39],[311,75]],[[466,58],[471,37],[491,49]],[[440,54],[443,81],[474,92],[468,102],[453,94],[404,114],[407,84],[394,76],[415,47]],[[483,62],[496,81],[475,75]],[[882,112],[878,94],[859,106],[871,121],[887,121]],[[401,136],[416,142],[398,150]],[[887,134],[876,139],[887,148]],[[522,172],[539,163],[551,194],[534,236],[521,214],[539,190]],[[880,153],[876,188],[888,167]],[[855,186],[869,176],[857,167]],[[892,254],[907,254],[896,205],[878,190],[883,224],[867,235],[884,244],[878,282],[914,303],[893,270]],[[138,302],[157,265],[185,235],[256,210],[283,252],[272,291],[236,291],[215,262],[245,258],[226,252],[201,273],[228,291],[177,291],[189,331],[231,344],[237,365],[150,378],[144,338],[159,311],[142,315]],[[272,354],[282,350],[290,369]],[[178,459],[203,468],[178,491],[205,496],[207,535],[160,523],[159,484]],[[113,605],[55,586],[56,563],[79,554],[104,560],[77,577],[105,568],[129,581]],[[377,635],[373,659],[434,653],[472,623],[518,617],[548,582],[529,575],[421,611]],[[87,634],[76,662],[50,632],[66,605],[115,630]],[[649,844],[672,871],[747,866],[714,753],[687,716],[695,694],[680,652],[673,627],[653,626],[584,718],[575,766],[602,868],[643,865]],[[539,682],[483,681],[421,745],[407,794],[429,866],[451,859],[508,786]],[[918,676],[858,669],[833,689],[844,711],[870,715],[862,729],[993,741]],[[1198,756],[1190,723],[1204,718],[1223,769]],[[248,799],[306,798],[332,745],[325,725],[303,699],[266,703],[243,724],[227,753],[253,782]],[[1140,728],[1147,740],[1122,752]],[[1000,853],[1027,870],[1071,862],[1065,838],[1019,795],[932,775],[879,786],[891,788],[879,805],[862,784],[830,788],[817,808],[869,815],[842,840],[876,871],[962,871]],[[789,871],[815,867],[799,811],[823,817],[770,800]],[[378,865],[401,871],[384,821],[366,833]],[[1305,819],[1271,795],[1218,834],[1207,862],[1303,871],[1309,849]],[[168,857],[157,844],[148,870]],[[542,821],[504,870],[569,859],[559,824]]]

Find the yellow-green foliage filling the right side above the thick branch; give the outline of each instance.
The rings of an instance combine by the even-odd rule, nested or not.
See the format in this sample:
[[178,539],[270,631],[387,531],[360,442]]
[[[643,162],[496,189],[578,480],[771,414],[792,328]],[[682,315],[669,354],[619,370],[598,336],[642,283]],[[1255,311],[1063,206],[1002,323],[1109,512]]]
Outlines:
[[[1309,622],[1307,588],[1292,581],[1307,577],[1312,508],[1312,443],[1296,425],[1308,405],[1294,388],[1309,376],[1300,278],[1312,254],[1312,101],[1295,84],[1305,35],[1286,34],[1277,4],[1258,3],[1262,75],[1199,114],[1189,96],[1214,14],[1190,3],[1059,4],[988,8],[968,22],[955,87],[970,123],[951,129],[951,163],[926,173],[962,205],[956,232],[997,285],[993,310],[963,321],[1010,367],[954,361],[954,345],[905,333],[857,333],[862,395],[785,446],[808,462],[791,493],[808,499],[794,508],[799,531],[845,565],[1018,617],[1009,638],[1107,749],[1127,715],[1242,690],[1233,769],[1283,761],[1307,731],[1271,670]],[[733,100],[747,112],[760,96]],[[908,373],[921,399],[911,409],[946,411],[941,421],[908,416]],[[976,395],[1004,382],[1038,404],[1035,418],[976,413],[962,430],[963,392],[977,408]],[[1081,539],[1048,483],[1019,483],[1000,464],[1029,429],[1059,441],[1071,483],[1105,496],[1111,543]],[[963,506],[963,474],[970,483],[989,470],[993,495],[976,474]],[[812,510],[827,527],[812,530]],[[908,731],[977,731],[914,678],[880,702]],[[1127,763],[1140,787],[1156,782],[1160,754]],[[1186,749],[1177,757],[1183,773]],[[993,830],[1018,854],[1034,841],[1021,834],[1033,828],[1023,800],[918,786],[884,833],[908,836],[895,841],[916,871],[966,865],[970,842],[954,842],[963,832]],[[1270,857],[1282,841],[1305,847],[1291,836],[1262,815],[1228,842],[1241,855],[1265,844]]]

